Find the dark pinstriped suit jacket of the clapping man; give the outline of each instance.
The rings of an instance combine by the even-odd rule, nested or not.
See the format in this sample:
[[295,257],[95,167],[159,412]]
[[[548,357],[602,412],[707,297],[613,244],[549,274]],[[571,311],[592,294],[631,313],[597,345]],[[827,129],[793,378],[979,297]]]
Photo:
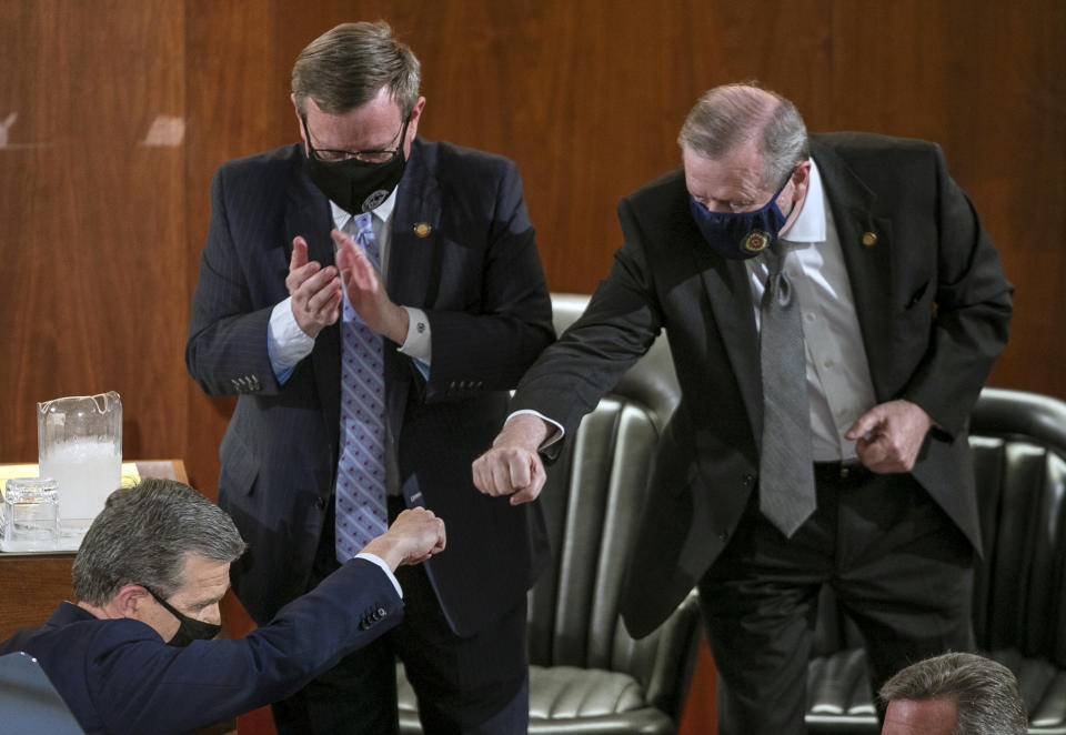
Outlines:
[[[319,537],[333,533],[323,521],[338,462],[340,329],[322,330],[284,384],[266,350],[271,310],[289,295],[292,239],[332,264],[333,225],[300,144],[222,165],[211,201],[185,361],[209,394],[241,394],[220,450],[219,505],[250,544],[233,582],[261,622],[306,588]],[[415,233],[422,223],[428,236]],[[482,495],[470,471],[509,390],[554,339],[517,169],[415,140],[390,248],[386,289],[425,310],[432,368],[424,380],[385,341],[388,420],[406,504],[447,525],[447,548],[426,568],[452,627],[467,635],[513,608],[546,561],[540,507]]]

